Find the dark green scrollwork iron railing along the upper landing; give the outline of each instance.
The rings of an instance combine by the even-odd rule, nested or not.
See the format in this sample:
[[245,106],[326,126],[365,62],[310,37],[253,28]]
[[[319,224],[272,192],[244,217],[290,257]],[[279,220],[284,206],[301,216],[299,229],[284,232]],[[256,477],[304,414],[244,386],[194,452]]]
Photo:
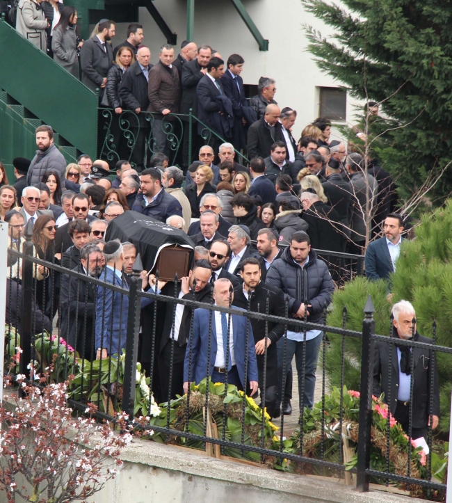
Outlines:
[[[202,126],[198,133],[197,125]],[[113,109],[99,108],[99,159],[106,159],[112,166],[120,159],[127,159],[132,166],[147,167],[153,154],[159,152],[156,138],[166,140],[164,154],[170,166],[184,161],[189,166],[197,160],[197,150],[202,145],[228,142],[205,125],[192,113],[168,113],[161,115],[141,111],[123,110],[117,114]],[[238,150],[236,159],[247,157]]]

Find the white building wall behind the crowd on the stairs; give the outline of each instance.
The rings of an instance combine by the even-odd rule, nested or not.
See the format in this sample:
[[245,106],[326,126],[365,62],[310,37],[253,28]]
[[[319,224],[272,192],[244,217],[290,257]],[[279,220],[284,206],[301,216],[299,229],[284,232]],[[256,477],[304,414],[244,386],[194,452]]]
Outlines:
[[[318,87],[336,87],[338,82],[323,74],[307,51],[303,24],[313,26],[328,36],[328,28],[306,13],[300,0],[243,0],[245,8],[264,38],[269,50],[259,51],[257,42],[229,0],[195,0],[194,41],[209,44],[225,61],[229,54],[245,59],[244,83],[257,84],[259,77],[276,81],[275,99],[281,108],[290,106],[298,112],[293,128],[299,137],[302,128],[318,117]],[[186,38],[186,0],[154,0],[154,5],[170,29],[177,33],[177,49]],[[145,44],[152,51],[152,63],[159,59],[159,48],[166,39],[146,8],[140,8],[139,22],[145,31]],[[125,38],[126,24],[118,24],[113,45]],[[347,101],[347,120],[354,123],[354,105]],[[339,136],[333,128],[331,138]]]

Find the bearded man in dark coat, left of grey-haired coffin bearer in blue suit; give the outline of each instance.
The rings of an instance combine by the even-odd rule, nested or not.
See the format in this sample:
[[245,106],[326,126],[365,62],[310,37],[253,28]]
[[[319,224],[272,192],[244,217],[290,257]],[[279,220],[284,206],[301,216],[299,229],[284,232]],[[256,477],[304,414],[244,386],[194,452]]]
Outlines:
[[[83,246],[79,251],[80,263],[73,270],[91,278],[99,278],[102,270],[102,252],[95,243]],[[74,276],[66,276],[67,289],[61,294],[60,334],[72,346],[80,358],[95,359],[92,346],[92,319],[94,317],[95,296],[89,281]]]

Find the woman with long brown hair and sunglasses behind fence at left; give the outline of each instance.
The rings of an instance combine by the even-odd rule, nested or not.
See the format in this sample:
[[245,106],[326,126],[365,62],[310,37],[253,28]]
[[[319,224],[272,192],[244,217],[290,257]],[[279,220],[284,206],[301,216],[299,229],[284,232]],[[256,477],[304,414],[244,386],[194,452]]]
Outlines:
[[[55,234],[57,225],[55,218],[49,215],[41,215],[36,218],[33,225],[33,237],[31,241],[35,246],[33,255],[47,262],[59,265],[60,262],[55,257]],[[59,292],[59,274],[55,271],[49,271],[44,266],[37,266],[41,278],[36,282],[36,302],[39,308],[46,316],[53,317],[58,305]]]

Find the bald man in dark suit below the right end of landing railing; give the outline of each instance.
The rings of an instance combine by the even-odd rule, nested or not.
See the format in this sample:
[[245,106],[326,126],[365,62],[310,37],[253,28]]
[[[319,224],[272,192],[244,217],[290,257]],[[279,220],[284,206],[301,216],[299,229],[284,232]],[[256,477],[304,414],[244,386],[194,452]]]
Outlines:
[[248,129],[248,159],[270,155],[271,145],[275,141],[284,141],[280,122],[280,107],[270,104],[265,110],[264,117],[253,122]]

